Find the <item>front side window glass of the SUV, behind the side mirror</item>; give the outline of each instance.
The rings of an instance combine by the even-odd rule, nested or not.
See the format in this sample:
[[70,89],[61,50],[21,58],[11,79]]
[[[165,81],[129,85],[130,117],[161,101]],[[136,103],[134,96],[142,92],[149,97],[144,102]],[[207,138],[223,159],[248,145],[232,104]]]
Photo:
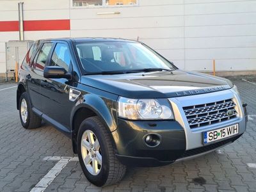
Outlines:
[[60,66],[65,68],[68,71],[70,65],[70,52],[68,45],[66,44],[57,44],[54,52],[52,53],[51,63],[52,66]]

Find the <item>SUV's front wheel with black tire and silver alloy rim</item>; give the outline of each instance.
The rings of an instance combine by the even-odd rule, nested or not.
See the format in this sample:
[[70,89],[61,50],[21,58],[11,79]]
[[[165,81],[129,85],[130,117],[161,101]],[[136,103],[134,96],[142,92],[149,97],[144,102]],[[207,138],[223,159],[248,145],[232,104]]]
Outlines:
[[[97,161],[98,173],[96,172],[92,173],[92,170],[88,168],[88,166],[90,167],[90,164],[86,165],[84,163],[86,158],[83,158],[84,157],[83,155],[88,154],[89,150],[87,150],[87,148],[84,147],[85,145],[83,145],[83,147],[81,146],[81,141],[83,137],[83,143],[84,143],[84,136],[88,136],[88,132],[90,132],[90,134],[91,133],[94,134],[93,140],[99,141],[100,149],[96,147],[96,152],[95,152],[97,154],[97,155],[95,154],[95,159],[99,159],[98,154],[100,154],[102,157],[100,166],[99,166],[99,161]],[[122,180],[122,178],[124,177],[126,172],[126,166],[124,164],[121,164],[116,158],[113,150],[113,145],[111,143],[111,138],[109,136],[109,132],[107,131],[106,127],[102,124],[99,117],[93,116],[90,118],[86,118],[86,120],[84,120],[81,123],[78,131],[78,136],[77,136],[77,149],[78,149],[79,162],[81,164],[84,175],[95,186],[100,187],[100,186],[108,186],[111,184],[115,184],[116,182],[119,182],[120,180]],[[90,161],[92,163],[93,161],[92,158],[90,159]]]

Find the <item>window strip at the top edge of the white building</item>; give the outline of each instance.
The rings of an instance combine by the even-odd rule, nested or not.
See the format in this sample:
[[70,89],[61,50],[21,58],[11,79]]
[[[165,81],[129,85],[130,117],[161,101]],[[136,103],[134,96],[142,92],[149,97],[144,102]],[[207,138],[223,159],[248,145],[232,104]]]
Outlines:
[[72,0],[73,6],[134,5],[138,0]]

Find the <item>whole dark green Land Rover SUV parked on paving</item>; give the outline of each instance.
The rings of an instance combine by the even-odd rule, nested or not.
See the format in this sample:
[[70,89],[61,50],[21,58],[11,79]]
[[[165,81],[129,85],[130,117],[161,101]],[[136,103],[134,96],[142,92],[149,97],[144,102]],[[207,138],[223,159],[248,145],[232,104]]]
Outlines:
[[72,140],[84,175],[103,186],[126,166],[160,166],[223,147],[246,129],[227,79],[179,70],[147,45],[114,38],[36,41],[19,70],[17,109]]

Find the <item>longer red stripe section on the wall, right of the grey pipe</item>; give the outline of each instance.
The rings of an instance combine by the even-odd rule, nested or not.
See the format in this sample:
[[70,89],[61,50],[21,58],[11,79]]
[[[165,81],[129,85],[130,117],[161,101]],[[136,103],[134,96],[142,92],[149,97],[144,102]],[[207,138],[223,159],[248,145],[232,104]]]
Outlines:
[[70,20],[24,20],[24,31],[70,30]]

